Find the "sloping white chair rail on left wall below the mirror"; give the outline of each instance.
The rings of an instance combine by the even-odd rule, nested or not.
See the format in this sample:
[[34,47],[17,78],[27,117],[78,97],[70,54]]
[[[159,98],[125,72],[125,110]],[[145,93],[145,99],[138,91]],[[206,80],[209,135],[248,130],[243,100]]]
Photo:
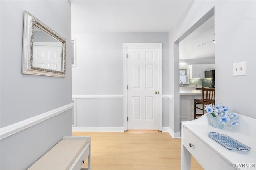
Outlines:
[[64,105],[62,107],[59,107],[57,109],[53,109],[51,111],[48,111],[46,113],[42,113],[40,115],[30,117],[28,119],[25,119],[23,121],[14,123],[12,125],[3,127],[0,129],[0,140],[7,138],[8,136],[11,136],[15,133],[20,132],[21,130],[24,130],[26,128],[32,127],[42,121],[45,121],[47,119],[50,119],[51,117],[54,117],[56,115],[59,115],[60,113],[63,113],[69,109],[72,109],[74,106],[73,103],[70,103],[68,105]]

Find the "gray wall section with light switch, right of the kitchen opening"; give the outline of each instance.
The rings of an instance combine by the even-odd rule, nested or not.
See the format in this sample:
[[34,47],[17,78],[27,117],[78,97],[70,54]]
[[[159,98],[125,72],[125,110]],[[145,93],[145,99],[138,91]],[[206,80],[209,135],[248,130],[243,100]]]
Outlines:
[[[256,119],[256,1],[217,5],[215,61],[216,74],[221,76],[216,78],[216,101]],[[246,76],[233,76],[233,63],[242,61],[246,61]]]

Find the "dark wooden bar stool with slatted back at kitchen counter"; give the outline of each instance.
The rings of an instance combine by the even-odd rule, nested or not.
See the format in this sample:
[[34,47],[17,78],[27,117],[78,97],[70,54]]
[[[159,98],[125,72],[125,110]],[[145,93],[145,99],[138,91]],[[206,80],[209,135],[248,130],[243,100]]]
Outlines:
[[[206,97],[204,97],[206,96]],[[202,99],[194,99],[194,119],[197,119],[197,117],[200,117],[204,115],[204,105],[208,104],[215,104],[215,89],[213,88],[202,88]],[[201,107],[198,107],[198,105],[202,105]],[[196,113],[196,109],[202,110],[202,114]]]

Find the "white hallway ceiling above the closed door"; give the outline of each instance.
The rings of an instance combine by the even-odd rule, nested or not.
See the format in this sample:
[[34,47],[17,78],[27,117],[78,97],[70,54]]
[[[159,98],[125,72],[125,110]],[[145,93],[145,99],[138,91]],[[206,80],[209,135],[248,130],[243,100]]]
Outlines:
[[169,32],[193,0],[74,0],[72,32]]

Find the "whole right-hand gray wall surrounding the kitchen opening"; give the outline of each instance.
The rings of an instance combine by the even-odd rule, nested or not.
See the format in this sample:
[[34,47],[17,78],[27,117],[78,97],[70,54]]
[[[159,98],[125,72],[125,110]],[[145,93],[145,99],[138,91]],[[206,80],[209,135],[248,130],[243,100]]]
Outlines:
[[[178,54],[174,44],[210,9],[215,8],[216,103],[228,105],[234,112],[256,118],[256,2],[194,1],[169,32],[170,99],[169,126],[179,131]],[[246,61],[246,76],[233,76],[233,63]],[[244,88],[246,87],[246,88]],[[177,102],[175,102],[177,101]]]

